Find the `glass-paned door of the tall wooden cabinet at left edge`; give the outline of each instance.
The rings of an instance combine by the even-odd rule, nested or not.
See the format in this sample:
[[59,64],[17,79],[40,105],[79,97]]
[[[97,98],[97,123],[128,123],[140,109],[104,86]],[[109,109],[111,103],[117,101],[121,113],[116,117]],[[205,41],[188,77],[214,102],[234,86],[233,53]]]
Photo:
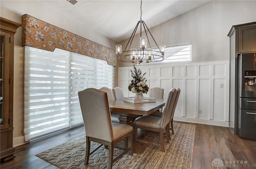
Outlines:
[[1,31],[0,41],[0,126],[9,125],[10,34]]

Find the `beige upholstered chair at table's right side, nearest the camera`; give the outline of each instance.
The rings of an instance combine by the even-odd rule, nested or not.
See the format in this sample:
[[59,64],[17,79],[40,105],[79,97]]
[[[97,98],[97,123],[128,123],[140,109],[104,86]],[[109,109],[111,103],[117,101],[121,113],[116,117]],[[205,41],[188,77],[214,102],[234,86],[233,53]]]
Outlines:
[[167,143],[169,143],[170,116],[174,106],[176,94],[177,94],[176,88],[172,88],[169,91],[161,118],[156,116],[142,116],[134,121],[133,128],[134,128],[134,138],[136,139],[136,141],[149,143],[149,141],[141,140],[137,138],[138,128],[146,131],[158,132],[160,133],[160,143],[155,143],[155,142],[150,142],[150,143],[153,143],[156,145],[160,144],[161,150],[165,152],[164,151],[164,131],[166,133]]

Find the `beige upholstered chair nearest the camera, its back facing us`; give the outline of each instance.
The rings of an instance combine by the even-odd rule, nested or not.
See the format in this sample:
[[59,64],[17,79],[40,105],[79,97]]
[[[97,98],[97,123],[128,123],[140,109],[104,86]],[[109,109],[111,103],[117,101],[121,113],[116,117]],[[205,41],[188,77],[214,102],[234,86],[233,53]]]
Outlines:
[[[78,92],[78,97],[86,133],[84,164],[88,164],[89,156],[97,152],[96,150],[102,145],[107,145],[109,149],[108,169],[111,169],[113,163],[125,153],[129,152],[132,155],[132,126],[119,123],[112,124],[107,93],[95,88],[87,88]],[[128,148],[113,159],[114,145],[125,138],[128,140]],[[101,145],[90,152],[90,141],[101,143]]]

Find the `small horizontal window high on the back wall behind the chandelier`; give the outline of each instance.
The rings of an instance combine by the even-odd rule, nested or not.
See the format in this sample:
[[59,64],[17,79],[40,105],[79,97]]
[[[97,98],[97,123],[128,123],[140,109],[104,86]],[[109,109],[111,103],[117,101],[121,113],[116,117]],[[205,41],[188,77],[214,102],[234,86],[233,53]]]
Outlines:
[[161,62],[154,62],[154,64],[191,61],[191,46],[191,43],[166,46],[166,49],[164,51],[164,60]]

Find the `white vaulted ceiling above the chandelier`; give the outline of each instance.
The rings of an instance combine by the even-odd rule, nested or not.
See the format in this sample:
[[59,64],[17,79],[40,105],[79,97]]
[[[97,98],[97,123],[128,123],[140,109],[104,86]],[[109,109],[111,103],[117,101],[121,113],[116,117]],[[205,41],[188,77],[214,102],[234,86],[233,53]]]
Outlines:
[[[142,20],[152,28],[209,1],[143,0]],[[77,0],[74,5],[68,0],[38,2],[116,42],[129,38],[140,20],[140,0]]]

